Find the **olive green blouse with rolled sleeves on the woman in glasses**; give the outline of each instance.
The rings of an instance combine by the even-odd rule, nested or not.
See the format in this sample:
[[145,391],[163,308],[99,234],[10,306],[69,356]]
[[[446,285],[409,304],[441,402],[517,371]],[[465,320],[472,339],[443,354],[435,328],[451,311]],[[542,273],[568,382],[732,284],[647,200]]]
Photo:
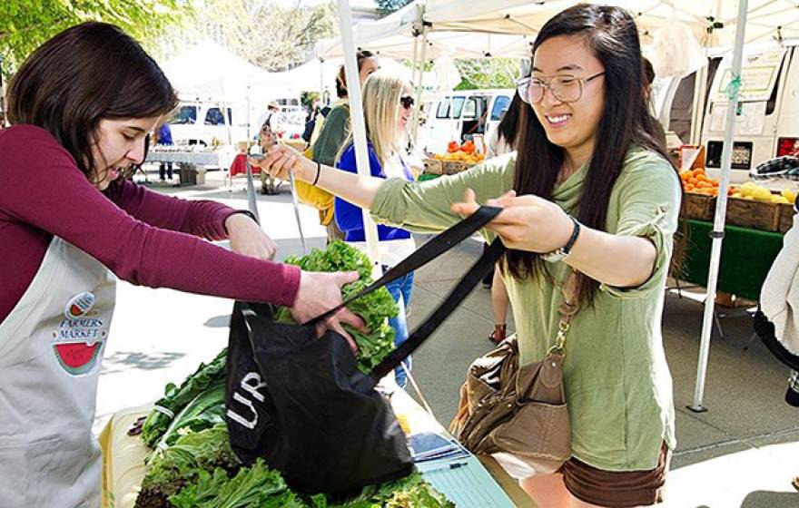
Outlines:
[[[472,189],[478,202],[513,187],[516,153],[435,181],[386,181],[372,202],[381,223],[435,232],[460,220],[449,205]],[[558,185],[553,200],[577,215],[587,167]],[[652,277],[636,288],[600,286],[592,306],[580,308],[567,337],[564,377],[573,455],[607,471],[655,468],[661,445],[674,449],[672,379],[666,365],[661,316],[672,235],[680,208],[676,171],[660,155],[628,151],[611,192],[606,231],[650,239],[657,256]],[[489,238],[488,232],[484,236]],[[541,360],[554,343],[563,301],[560,286],[570,268],[549,266],[546,278],[505,276],[517,326],[522,365]]]

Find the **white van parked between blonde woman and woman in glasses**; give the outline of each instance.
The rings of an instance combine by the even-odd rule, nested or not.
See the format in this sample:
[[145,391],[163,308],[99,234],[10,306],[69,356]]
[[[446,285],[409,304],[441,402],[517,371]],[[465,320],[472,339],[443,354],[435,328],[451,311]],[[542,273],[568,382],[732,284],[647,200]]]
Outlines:
[[451,141],[463,142],[475,134],[486,138],[502,119],[513,99],[513,89],[459,90],[429,104],[424,123],[427,151],[447,151]]

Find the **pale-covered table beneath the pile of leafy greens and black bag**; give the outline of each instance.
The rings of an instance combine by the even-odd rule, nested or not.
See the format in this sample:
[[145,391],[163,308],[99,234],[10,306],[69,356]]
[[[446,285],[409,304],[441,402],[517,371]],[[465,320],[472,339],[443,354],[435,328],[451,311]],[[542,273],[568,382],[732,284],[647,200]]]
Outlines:
[[[391,405],[398,418],[407,422],[411,433],[441,432],[443,430],[439,422],[426,413],[403,390],[398,390],[391,396]],[[138,436],[127,435],[127,430],[139,417],[147,415],[149,411],[150,407],[148,406],[123,409],[112,416],[100,435],[104,459],[103,508],[130,508],[136,501],[139,486],[146,473],[143,459],[150,450]],[[507,494],[506,503],[498,503],[498,506],[507,506],[509,500],[517,508],[536,508],[535,503],[494,459],[479,458],[488,474]],[[458,506],[459,508],[469,508],[465,503],[459,503]],[[473,508],[490,508],[490,506],[479,503],[479,506],[475,505]]]

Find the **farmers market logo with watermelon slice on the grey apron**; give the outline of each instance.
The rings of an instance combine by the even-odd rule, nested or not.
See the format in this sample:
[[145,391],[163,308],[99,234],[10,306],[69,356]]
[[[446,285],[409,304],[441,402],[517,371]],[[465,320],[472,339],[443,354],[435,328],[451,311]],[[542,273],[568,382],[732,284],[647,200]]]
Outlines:
[[53,332],[53,352],[58,364],[73,376],[90,374],[103,351],[104,321],[93,310],[96,298],[88,291],[70,298],[64,306],[64,319]]

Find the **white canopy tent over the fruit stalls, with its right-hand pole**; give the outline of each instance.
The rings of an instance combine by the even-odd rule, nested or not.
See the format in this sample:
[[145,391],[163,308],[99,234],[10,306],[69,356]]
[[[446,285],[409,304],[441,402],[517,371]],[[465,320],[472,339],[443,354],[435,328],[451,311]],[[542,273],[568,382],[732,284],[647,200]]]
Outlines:
[[[396,38],[421,37],[422,50],[412,51],[414,60],[421,53],[421,60],[426,59],[426,50],[433,55],[437,51],[436,44],[427,41],[438,33],[465,34],[504,34],[532,36],[549,18],[571,5],[573,0],[495,0],[490,3],[461,2],[458,0],[427,0],[406,6],[395,15],[381,20],[381,27],[374,30],[365,26],[356,26],[354,33],[359,34],[358,45],[377,44],[382,36]],[[651,43],[656,29],[676,23],[686,24],[697,41],[705,48],[733,47],[732,73],[733,85],[729,88],[729,105],[727,112],[734,112],[738,102],[740,88],[741,60],[743,45],[755,41],[776,40],[799,36],[799,10],[792,0],[739,0],[730,2],[723,0],[606,0],[603,4],[619,5],[634,13],[638,24],[642,44]],[[340,0],[341,4],[341,0]],[[415,21],[414,21],[415,20]],[[377,24],[373,24],[377,25]],[[528,40],[527,40],[528,41]],[[413,42],[411,44],[417,44]],[[429,44],[429,48],[427,45]],[[415,45],[413,47],[416,47]],[[333,51],[330,48],[328,51]],[[390,51],[387,49],[386,51]],[[391,50],[394,51],[394,50]],[[396,50],[400,51],[400,50]],[[499,53],[497,53],[499,54]],[[510,54],[508,54],[509,56]],[[703,97],[701,86],[704,77],[700,73],[697,83],[697,97]],[[695,103],[695,112],[701,114],[704,104]],[[700,353],[697,366],[694,403],[690,407],[695,411],[704,411],[702,399],[704,395],[707,358],[710,348],[713,313],[715,305],[716,283],[721,259],[722,239],[726,213],[726,193],[729,186],[732,145],[735,139],[735,116],[729,115],[725,122],[725,143],[722,153],[721,181],[719,198],[716,201],[713,244],[710,269],[705,299],[705,316],[703,320]]]

